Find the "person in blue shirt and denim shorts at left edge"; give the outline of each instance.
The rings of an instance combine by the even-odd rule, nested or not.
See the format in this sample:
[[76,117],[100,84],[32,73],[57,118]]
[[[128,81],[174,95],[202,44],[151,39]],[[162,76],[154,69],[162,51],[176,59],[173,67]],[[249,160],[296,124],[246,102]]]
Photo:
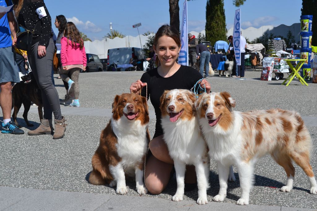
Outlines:
[[[0,1],[0,6],[3,7],[12,4],[11,0]],[[9,12],[0,13],[0,106],[3,112],[1,132],[24,134],[24,131],[11,121],[11,83],[20,82],[19,70],[14,60],[13,45],[16,42],[16,21],[12,11],[11,8]],[[11,34],[13,39],[11,39]]]

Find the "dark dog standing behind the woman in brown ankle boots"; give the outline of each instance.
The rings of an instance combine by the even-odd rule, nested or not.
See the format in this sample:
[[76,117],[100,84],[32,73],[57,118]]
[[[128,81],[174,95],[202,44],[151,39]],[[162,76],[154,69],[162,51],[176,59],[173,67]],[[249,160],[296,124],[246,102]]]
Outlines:
[[28,125],[28,127],[32,127],[33,124],[30,124],[28,121],[28,112],[31,107],[31,101],[38,105],[38,112],[40,120],[43,119],[43,102],[42,102],[42,95],[41,90],[36,84],[36,81],[32,75],[31,81],[29,83],[25,83],[24,81],[21,81],[20,83],[16,83],[16,85],[12,88],[12,107],[14,108],[12,118],[14,123],[18,126],[16,121],[16,116],[22,106],[24,106],[24,112],[23,112],[23,118]]

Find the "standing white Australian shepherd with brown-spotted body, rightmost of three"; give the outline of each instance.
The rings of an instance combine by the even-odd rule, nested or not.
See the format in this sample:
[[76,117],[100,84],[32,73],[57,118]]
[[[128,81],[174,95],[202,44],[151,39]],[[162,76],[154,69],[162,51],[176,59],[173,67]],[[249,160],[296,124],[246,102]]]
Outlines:
[[316,179],[309,164],[312,140],[298,113],[281,109],[233,111],[236,101],[227,92],[202,94],[195,105],[209,155],[217,162],[220,190],[214,201],[225,199],[228,166],[235,165],[242,189],[236,203],[249,204],[253,164],[266,154],[271,154],[286,171],[287,182],[281,191],[293,189],[293,160],[308,176],[310,193],[317,194]]

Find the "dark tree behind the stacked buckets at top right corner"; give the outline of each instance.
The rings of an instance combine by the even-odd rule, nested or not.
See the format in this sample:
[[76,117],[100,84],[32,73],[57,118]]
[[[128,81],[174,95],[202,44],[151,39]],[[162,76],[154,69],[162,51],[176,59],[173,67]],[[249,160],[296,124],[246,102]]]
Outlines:
[[[312,32],[313,37],[317,36],[317,0],[303,0],[303,7],[301,8],[301,15],[312,15],[313,25]],[[317,39],[312,40],[312,45],[317,46]]]

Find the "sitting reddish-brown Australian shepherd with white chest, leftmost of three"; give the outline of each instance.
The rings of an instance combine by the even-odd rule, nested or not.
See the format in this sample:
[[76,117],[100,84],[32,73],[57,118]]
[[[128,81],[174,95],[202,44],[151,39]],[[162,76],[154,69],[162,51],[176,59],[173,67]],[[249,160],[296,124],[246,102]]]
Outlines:
[[101,132],[93,158],[89,182],[117,186],[117,194],[126,194],[126,176],[135,176],[139,195],[146,194],[144,162],[150,136],[149,114],[145,97],[137,94],[116,95],[112,118]]

